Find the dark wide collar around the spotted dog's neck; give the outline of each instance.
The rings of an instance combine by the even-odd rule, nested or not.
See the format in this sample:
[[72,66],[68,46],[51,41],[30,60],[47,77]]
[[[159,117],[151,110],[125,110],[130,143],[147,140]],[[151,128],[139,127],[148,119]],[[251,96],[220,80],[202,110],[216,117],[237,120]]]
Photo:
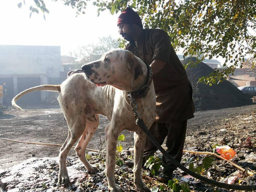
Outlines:
[[[146,85],[141,87],[139,90],[137,90],[135,92],[128,92],[128,94],[131,95],[132,98],[134,98],[134,99],[140,99],[140,98],[146,97],[148,94],[149,86],[153,79],[153,73],[152,73],[151,67],[148,64],[146,64],[146,66],[148,68],[148,78],[147,78]],[[129,97],[129,95],[128,95],[128,97]]]

